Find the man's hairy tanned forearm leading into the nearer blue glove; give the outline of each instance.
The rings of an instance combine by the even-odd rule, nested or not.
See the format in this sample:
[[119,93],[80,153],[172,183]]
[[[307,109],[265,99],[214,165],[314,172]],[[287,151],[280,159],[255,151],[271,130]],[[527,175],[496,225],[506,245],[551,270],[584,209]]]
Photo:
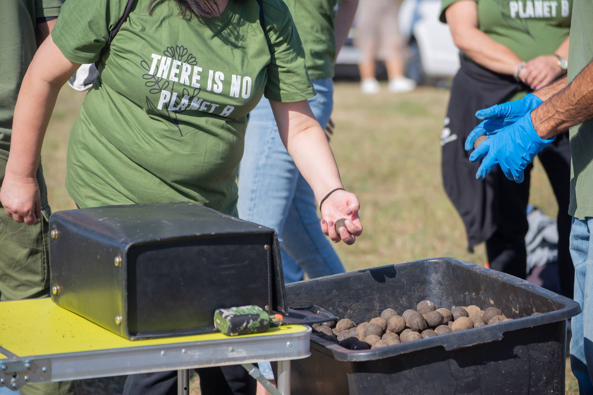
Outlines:
[[[561,81],[556,84],[561,84]],[[591,118],[593,118],[593,63],[589,63],[570,84],[551,95],[531,113],[535,131],[542,139],[550,139],[556,134],[565,132],[569,127]]]

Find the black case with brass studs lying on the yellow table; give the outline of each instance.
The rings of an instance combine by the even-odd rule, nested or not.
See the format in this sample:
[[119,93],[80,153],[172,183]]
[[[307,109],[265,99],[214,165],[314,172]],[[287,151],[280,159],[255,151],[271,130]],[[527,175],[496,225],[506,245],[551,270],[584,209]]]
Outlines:
[[199,204],[60,211],[50,236],[53,301],[129,339],[212,332],[222,307],[289,312],[274,230]]

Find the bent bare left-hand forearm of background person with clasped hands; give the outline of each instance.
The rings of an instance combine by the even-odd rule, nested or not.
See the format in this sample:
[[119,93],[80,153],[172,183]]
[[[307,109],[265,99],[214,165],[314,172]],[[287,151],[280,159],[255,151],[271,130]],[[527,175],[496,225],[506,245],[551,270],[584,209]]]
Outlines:
[[479,65],[500,74],[514,75],[521,58],[512,50],[492,40],[478,28],[477,4],[461,0],[445,10],[447,24],[455,45]]

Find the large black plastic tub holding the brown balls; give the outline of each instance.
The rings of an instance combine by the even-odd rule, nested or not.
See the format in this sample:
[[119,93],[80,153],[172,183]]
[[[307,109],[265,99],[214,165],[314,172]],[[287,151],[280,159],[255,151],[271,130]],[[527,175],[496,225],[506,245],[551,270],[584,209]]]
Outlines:
[[314,303],[356,323],[426,299],[437,308],[496,306],[514,319],[366,351],[313,335],[311,357],[292,362],[293,395],[564,394],[566,319],[581,311],[530,282],[452,258],[295,282],[286,294],[291,306]]

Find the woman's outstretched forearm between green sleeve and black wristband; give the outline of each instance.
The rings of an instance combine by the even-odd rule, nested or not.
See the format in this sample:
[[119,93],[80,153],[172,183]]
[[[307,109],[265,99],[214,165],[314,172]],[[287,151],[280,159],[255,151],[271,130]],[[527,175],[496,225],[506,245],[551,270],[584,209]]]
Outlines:
[[271,101],[280,139],[307,180],[318,202],[335,188],[343,188],[326,135],[306,100]]

